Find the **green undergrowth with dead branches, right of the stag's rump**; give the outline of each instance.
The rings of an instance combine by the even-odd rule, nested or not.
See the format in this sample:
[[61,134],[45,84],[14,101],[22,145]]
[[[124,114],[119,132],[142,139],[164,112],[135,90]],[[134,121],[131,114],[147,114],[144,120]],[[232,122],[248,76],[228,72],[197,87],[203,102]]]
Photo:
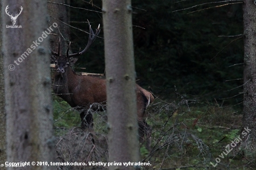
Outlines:
[[[154,154],[146,155],[146,160],[151,161],[152,169],[183,166],[188,166],[189,170],[211,168],[210,161],[213,162],[223,148],[242,132],[241,109],[197,102],[190,104],[191,99],[187,100],[187,97],[183,96],[182,100],[177,98],[178,110],[173,104],[159,99],[148,109],[147,122],[153,129],[151,146],[155,148]],[[229,157],[232,157],[231,153],[226,156]],[[218,165],[220,169],[227,168],[228,164],[231,169],[245,164],[243,160],[227,162],[224,158],[221,161],[222,164]]]

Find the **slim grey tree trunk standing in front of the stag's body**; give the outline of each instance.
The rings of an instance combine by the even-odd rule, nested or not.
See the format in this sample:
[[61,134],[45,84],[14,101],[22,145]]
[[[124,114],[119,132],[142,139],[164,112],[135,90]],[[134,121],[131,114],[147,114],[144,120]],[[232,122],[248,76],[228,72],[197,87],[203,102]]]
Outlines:
[[[109,162],[138,162],[139,142],[130,0],[103,0]],[[110,169],[127,169],[111,166]],[[132,166],[130,167],[132,169]],[[134,168],[134,167],[133,167]]]

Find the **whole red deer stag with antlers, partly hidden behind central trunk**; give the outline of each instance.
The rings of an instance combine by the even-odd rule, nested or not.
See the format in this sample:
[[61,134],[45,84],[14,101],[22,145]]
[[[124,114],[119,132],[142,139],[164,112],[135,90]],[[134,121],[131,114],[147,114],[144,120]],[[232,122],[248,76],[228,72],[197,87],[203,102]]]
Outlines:
[[[53,55],[51,59],[55,62],[56,70],[54,73],[54,93],[63,98],[71,107],[80,110],[82,129],[93,128],[93,115],[87,111],[90,105],[93,103],[106,102],[107,100],[106,80],[98,77],[77,75],[73,71],[71,65],[74,65],[77,61],[77,58],[74,57],[80,56],[86,52],[99,33],[99,27],[94,34],[90,26],[88,44],[81,52],[79,51],[77,53],[69,54],[68,46],[66,56],[61,56],[60,44],[58,53],[52,51]],[[140,142],[143,142],[143,137],[146,135],[147,147],[149,148],[150,142],[148,137],[151,135],[151,128],[144,118],[146,108],[154,101],[154,97],[150,92],[141,88],[139,85],[136,85],[136,96]]]

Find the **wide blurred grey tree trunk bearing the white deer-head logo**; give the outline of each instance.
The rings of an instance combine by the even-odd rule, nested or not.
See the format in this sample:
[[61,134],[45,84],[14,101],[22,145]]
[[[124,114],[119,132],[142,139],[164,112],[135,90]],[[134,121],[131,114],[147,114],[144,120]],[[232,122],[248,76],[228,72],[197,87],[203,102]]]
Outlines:
[[7,161],[30,162],[20,170],[55,169],[31,165],[33,161],[54,162],[49,36],[43,35],[47,30],[47,1],[2,2],[2,11],[8,5],[8,12],[14,15],[23,7],[15,24],[22,28],[7,28],[12,22],[6,13],[2,20]]

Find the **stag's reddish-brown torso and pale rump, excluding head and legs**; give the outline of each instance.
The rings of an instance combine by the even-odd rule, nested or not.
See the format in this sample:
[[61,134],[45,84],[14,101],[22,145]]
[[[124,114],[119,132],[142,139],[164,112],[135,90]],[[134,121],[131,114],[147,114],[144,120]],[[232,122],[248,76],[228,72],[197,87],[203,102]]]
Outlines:
[[[77,75],[70,66],[64,74],[55,72],[54,85],[54,93],[60,94],[59,96],[71,107],[79,106],[88,109],[93,103],[102,103],[107,100],[105,79]],[[138,120],[143,121],[146,107],[154,101],[154,97],[139,85],[136,85],[136,97]],[[87,122],[87,124],[90,123],[92,122]]]

